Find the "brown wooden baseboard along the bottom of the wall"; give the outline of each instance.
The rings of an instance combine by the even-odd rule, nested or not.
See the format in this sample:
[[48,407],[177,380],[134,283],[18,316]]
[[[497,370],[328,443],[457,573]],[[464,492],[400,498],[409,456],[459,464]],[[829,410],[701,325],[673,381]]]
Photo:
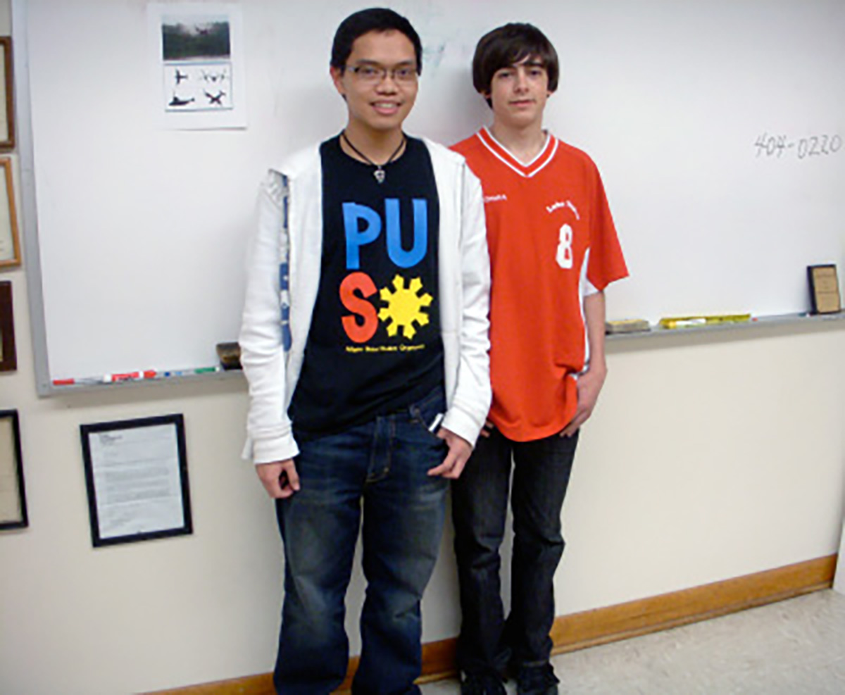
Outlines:
[[[837,555],[828,555],[671,594],[560,616],[552,627],[554,654],[658,632],[831,588],[836,566]],[[423,675],[418,682],[438,681],[455,674],[455,644],[455,638],[450,638],[423,645]],[[357,657],[352,657],[346,680],[337,692],[349,691],[357,665]],[[275,691],[272,676],[264,673],[148,695],[275,695]]]

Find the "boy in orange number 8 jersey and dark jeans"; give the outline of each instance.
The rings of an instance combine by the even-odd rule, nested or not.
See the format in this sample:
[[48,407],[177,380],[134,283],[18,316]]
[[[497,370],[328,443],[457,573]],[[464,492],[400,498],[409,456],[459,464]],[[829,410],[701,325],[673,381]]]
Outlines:
[[[536,27],[509,24],[478,42],[476,90],[493,125],[455,145],[482,181],[491,261],[493,405],[453,483],[463,622],[461,692],[558,692],[549,663],[560,514],[578,431],[607,375],[604,295],[627,275],[602,180],[589,156],[542,129],[558,57]],[[509,481],[511,607],[504,619],[499,545]]]

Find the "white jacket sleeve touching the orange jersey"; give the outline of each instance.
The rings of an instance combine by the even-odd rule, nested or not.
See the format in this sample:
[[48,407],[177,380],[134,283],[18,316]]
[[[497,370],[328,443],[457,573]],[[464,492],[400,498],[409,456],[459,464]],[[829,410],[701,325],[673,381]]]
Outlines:
[[490,409],[490,256],[481,183],[461,166],[461,352],[443,426],[473,445]]

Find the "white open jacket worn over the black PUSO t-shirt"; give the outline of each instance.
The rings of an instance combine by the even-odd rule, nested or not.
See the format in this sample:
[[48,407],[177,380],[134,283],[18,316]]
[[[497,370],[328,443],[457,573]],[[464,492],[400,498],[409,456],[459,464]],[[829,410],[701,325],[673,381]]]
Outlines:
[[[424,140],[440,210],[439,301],[447,411],[442,426],[474,444],[490,407],[490,265],[481,183],[463,157]],[[322,168],[314,145],[271,169],[259,199],[238,342],[249,382],[255,463],[299,452],[287,409],[303,365],[323,246]]]

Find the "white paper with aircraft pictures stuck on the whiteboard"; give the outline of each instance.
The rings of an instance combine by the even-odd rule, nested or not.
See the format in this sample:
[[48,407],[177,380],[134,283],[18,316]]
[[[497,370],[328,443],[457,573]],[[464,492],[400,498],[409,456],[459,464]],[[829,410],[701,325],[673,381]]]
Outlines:
[[239,5],[150,3],[155,110],[165,129],[246,128]]

